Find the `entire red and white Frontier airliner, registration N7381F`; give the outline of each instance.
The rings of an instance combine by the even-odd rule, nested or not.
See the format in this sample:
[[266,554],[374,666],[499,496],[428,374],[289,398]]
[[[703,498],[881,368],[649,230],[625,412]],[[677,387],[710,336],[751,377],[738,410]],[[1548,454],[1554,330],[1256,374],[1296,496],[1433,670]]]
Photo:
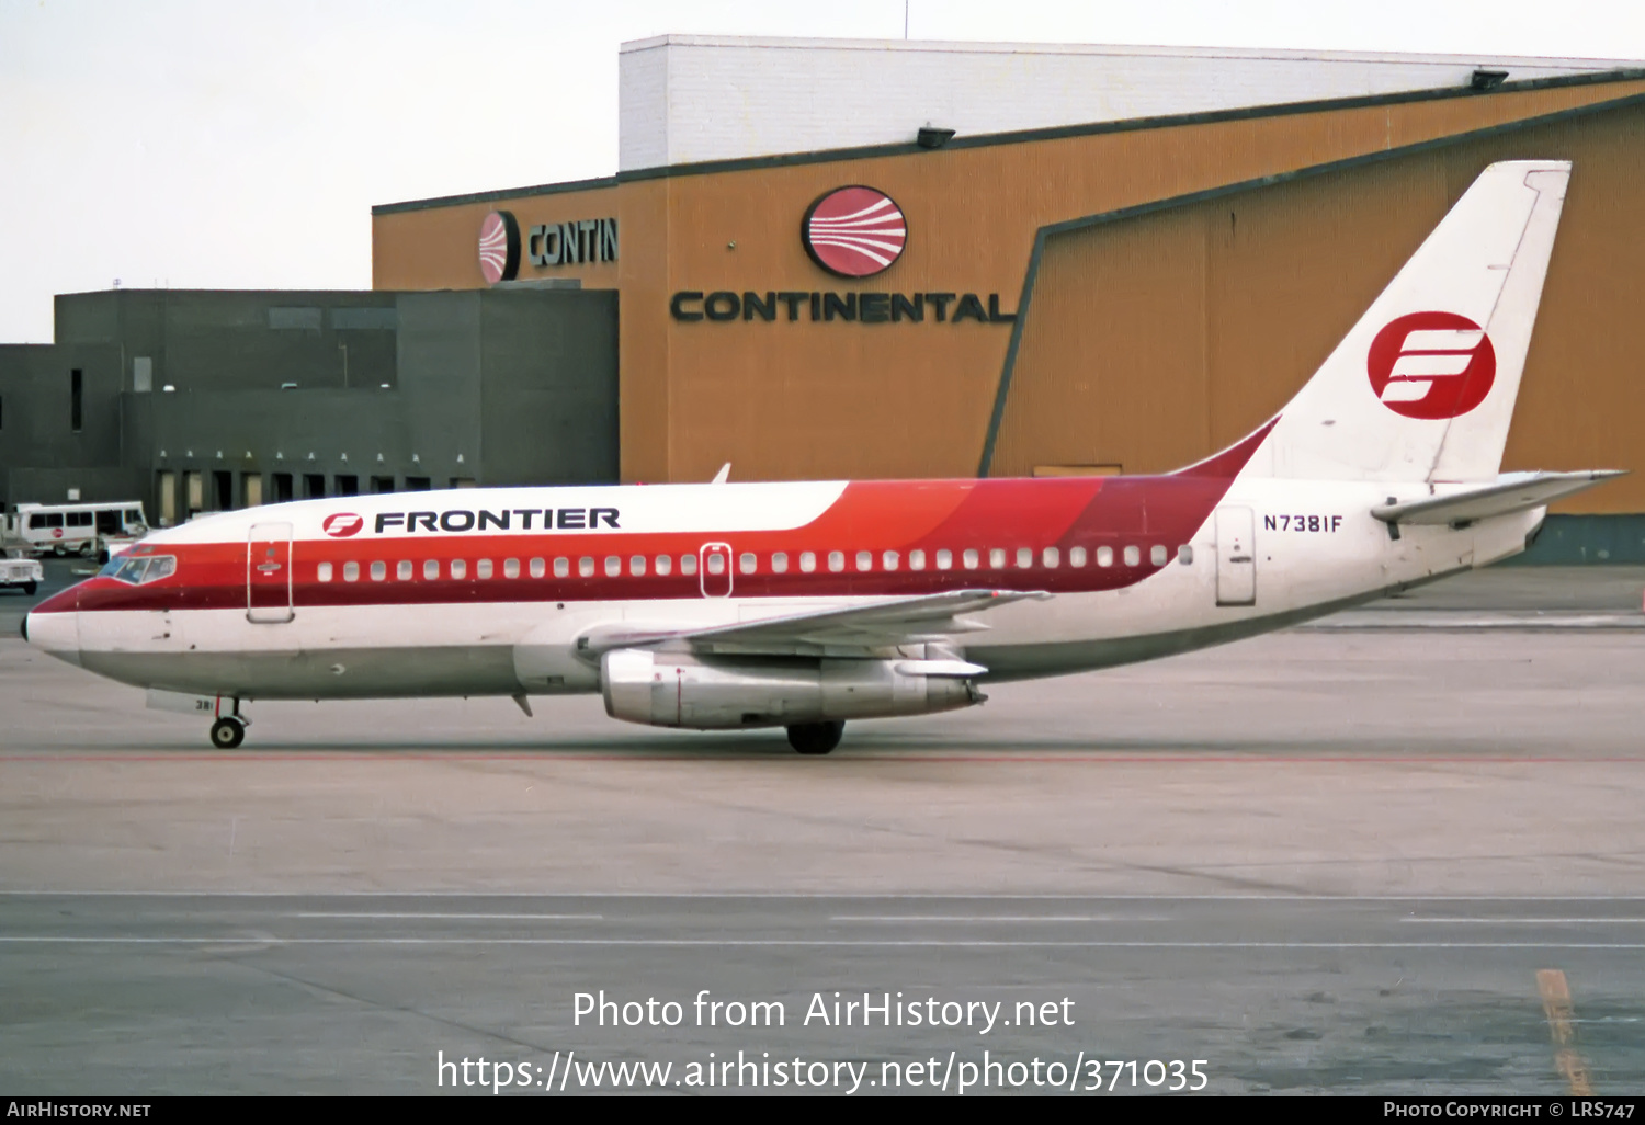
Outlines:
[[253,699],[597,691],[827,753],[852,719],[1281,628],[1515,554],[1614,475],[1500,472],[1569,171],[1485,169],[1278,414],[1173,474],[280,503],[148,536],[26,637],[220,747]]

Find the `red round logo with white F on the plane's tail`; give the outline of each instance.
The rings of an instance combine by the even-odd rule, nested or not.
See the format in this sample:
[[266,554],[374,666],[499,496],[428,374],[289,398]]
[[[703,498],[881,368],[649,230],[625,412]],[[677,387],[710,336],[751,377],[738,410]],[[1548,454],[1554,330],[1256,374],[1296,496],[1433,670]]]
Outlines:
[[1456,312],[1408,312],[1390,321],[1365,357],[1370,390],[1406,418],[1456,418],[1485,401],[1497,382],[1497,349],[1485,329]]

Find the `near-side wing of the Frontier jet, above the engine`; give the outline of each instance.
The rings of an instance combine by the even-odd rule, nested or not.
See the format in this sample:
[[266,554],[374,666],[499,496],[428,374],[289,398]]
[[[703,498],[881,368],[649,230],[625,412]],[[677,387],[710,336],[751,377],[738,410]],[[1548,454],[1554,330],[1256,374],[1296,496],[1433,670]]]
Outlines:
[[1043,590],[949,590],[707,628],[604,628],[591,633],[587,645],[579,648],[597,655],[612,648],[684,641],[693,650],[711,653],[857,655],[872,648],[944,641],[957,633],[985,630],[985,623],[971,620],[969,615],[1048,597],[1051,595]]

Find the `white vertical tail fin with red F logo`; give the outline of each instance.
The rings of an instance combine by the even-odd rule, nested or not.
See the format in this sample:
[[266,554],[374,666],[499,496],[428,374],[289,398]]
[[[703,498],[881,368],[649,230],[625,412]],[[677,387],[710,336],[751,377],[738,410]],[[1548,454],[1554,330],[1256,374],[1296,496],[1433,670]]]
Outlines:
[[1569,176],[1555,160],[1480,173],[1272,423],[1245,472],[1494,479]]

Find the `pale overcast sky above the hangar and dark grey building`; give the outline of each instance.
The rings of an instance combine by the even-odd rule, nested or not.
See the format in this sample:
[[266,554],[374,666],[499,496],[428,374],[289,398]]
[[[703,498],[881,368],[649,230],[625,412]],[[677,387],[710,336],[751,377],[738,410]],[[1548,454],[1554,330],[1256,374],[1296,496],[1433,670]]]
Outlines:
[[[0,342],[51,296],[368,288],[370,207],[605,176],[617,48],[903,0],[0,0]],[[915,39],[1645,59],[1642,0],[911,0]]]

